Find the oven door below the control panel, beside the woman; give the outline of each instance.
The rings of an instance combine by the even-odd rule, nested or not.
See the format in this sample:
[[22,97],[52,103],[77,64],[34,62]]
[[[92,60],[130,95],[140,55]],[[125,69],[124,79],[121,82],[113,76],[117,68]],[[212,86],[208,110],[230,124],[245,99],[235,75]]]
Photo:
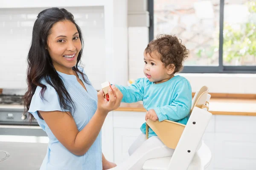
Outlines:
[[[9,157],[0,161],[0,170],[39,170],[49,139],[39,126],[0,125],[0,150]],[[0,153],[0,160],[6,156]]]

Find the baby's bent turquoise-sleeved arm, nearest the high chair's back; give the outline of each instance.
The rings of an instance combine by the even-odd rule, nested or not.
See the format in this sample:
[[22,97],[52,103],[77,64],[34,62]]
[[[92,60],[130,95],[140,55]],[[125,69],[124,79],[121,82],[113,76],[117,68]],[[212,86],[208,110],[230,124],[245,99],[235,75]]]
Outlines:
[[170,105],[154,108],[159,121],[178,121],[190,113],[192,105],[192,91],[188,80],[184,79],[177,83],[174,90],[175,99]]

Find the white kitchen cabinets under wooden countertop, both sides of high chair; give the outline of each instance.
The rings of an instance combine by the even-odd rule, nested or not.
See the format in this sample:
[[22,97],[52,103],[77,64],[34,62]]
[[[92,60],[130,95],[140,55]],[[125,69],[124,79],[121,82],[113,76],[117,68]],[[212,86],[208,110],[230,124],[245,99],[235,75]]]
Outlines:
[[[140,134],[145,112],[112,111],[102,127],[102,151],[116,164]],[[203,140],[212,151],[209,170],[254,170],[256,116],[212,115]]]

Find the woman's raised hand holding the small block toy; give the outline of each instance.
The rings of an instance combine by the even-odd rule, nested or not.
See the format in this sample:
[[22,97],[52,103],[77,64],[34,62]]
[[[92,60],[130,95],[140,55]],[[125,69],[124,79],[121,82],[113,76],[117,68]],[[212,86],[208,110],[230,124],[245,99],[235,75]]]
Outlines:
[[[113,91],[112,91],[112,89]],[[103,90],[98,92],[98,107],[97,110],[100,113],[108,114],[108,112],[117,109],[120,106],[122,101],[122,93],[116,88],[115,85],[112,85],[111,88],[108,89],[109,101],[104,98],[105,94]]]

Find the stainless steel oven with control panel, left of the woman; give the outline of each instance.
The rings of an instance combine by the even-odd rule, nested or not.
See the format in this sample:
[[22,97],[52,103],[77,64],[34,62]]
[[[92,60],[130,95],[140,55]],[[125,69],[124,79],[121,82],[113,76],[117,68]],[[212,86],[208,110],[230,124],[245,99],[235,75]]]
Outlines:
[[0,170],[39,170],[48,142],[38,123],[23,115],[22,105],[0,104]]

